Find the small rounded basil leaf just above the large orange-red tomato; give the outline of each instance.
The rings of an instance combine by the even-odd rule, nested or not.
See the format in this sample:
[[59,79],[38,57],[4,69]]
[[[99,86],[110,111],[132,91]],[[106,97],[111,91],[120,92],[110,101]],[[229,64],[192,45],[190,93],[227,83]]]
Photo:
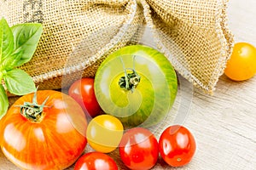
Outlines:
[[20,69],[7,71],[3,80],[11,94],[25,95],[36,91],[35,83],[26,71]]

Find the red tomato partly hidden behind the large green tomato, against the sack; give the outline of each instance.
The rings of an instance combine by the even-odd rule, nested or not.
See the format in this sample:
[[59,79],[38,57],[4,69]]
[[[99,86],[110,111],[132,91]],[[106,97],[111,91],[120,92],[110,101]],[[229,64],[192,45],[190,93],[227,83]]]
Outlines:
[[82,78],[73,82],[68,94],[75,99],[89,116],[95,117],[102,113],[94,92],[94,78]]

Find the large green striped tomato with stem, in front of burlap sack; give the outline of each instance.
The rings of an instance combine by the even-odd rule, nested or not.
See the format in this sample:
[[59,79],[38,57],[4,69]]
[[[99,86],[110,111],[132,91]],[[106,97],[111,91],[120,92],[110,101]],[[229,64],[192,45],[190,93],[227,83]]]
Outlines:
[[164,54],[143,45],[120,48],[96,71],[96,99],[124,127],[150,127],[171,110],[177,75]]

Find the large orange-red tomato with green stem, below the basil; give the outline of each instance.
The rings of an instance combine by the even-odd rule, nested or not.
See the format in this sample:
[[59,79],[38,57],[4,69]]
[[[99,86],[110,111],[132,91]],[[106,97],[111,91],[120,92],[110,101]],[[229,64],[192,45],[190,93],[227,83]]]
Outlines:
[[42,90],[26,94],[3,120],[3,154],[21,169],[64,169],[84,151],[87,120],[67,94]]

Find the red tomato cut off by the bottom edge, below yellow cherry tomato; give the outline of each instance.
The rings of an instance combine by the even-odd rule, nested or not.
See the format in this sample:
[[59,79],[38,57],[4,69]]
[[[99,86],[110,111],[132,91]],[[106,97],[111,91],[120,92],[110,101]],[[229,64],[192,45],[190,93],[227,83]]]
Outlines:
[[107,154],[90,152],[79,158],[74,170],[118,170],[118,166]]

